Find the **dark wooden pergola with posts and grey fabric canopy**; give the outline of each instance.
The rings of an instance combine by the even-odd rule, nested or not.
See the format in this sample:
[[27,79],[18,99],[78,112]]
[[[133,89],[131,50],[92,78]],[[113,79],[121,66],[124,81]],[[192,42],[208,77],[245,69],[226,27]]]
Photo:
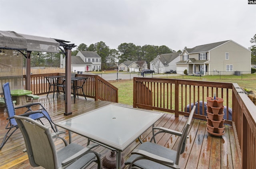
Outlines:
[[[32,51],[63,53],[66,57],[66,81],[71,81],[71,49],[76,47],[74,44],[68,44],[70,41],[40,37],[34,35],[25,35],[14,31],[0,31],[0,49],[16,50],[22,53],[26,58],[26,90],[30,90],[30,54]],[[26,53],[24,52],[26,51]],[[71,112],[71,83],[66,84],[65,90],[65,112],[64,115]],[[68,97],[69,96],[69,97]]]

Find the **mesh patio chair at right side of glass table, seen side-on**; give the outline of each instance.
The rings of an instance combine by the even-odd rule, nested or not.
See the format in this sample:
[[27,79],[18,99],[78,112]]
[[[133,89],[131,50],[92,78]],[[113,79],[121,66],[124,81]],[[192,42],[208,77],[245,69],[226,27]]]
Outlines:
[[[182,132],[177,132],[163,127],[153,128],[152,139],[154,139],[154,141],[155,136],[159,133],[168,133],[180,136],[181,138],[177,151],[152,143],[151,139],[150,142],[144,142],[138,147],[138,149],[134,149],[132,151],[132,155],[125,162],[125,165],[130,164],[128,169],[179,169],[180,154],[185,151],[188,130],[190,128],[195,109],[196,106],[192,108]],[[154,134],[154,130],[159,131]]]

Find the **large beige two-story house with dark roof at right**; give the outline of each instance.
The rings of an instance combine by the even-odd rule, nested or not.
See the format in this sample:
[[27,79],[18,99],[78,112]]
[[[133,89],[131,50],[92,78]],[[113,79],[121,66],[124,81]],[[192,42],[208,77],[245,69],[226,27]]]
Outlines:
[[240,75],[251,73],[251,51],[238,43],[227,40],[191,49],[186,48],[176,63],[176,71],[183,74]]

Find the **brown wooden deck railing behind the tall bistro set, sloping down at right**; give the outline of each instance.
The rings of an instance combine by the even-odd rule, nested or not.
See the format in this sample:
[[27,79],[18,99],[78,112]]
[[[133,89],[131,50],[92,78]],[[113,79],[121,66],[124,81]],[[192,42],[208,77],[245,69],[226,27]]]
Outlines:
[[[30,90],[32,90],[32,94],[46,94],[49,90],[49,83],[46,81],[46,76],[54,76],[54,75],[64,75],[64,73],[46,73],[46,74],[37,74],[30,75]],[[110,102],[118,102],[118,88],[111,85],[108,81],[105,81],[98,75],[86,75],[86,74],[76,74],[76,77],[87,77],[84,88],[78,90],[78,95],[83,96],[82,90],[84,90],[85,96],[89,98],[94,98],[95,100],[106,100]],[[0,85],[2,86],[6,82],[10,82],[10,84],[17,83],[19,86],[23,86],[25,88],[25,78],[23,76],[22,79],[18,79],[17,77],[1,77]],[[82,85],[82,80],[79,80],[78,85]],[[60,90],[62,90],[60,88]],[[53,86],[50,86],[50,92],[53,92]]]

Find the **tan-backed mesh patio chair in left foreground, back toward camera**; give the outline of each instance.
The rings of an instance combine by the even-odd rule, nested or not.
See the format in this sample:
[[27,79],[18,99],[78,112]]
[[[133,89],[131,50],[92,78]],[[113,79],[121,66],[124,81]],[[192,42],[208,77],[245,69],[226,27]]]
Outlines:
[[31,166],[42,166],[46,169],[80,169],[86,168],[92,162],[97,162],[100,169],[100,155],[91,150],[98,144],[92,143],[83,147],[70,143],[56,151],[47,127],[28,117],[14,116],[14,118],[20,126]]

